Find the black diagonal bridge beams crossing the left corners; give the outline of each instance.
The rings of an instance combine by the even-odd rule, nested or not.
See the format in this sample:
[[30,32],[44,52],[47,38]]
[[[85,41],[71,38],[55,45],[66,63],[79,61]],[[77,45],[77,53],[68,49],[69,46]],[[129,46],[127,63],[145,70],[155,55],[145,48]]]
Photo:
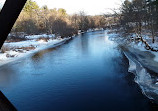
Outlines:
[[[0,48],[7,39],[16,19],[27,0],[6,0],[0,12]],[[16,111],[16,108],[0,92],[0,111]]]

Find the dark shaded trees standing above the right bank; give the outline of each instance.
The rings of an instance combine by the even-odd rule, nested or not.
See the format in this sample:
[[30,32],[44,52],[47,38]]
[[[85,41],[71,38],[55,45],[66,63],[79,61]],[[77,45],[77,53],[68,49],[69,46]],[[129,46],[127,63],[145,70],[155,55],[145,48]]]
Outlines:
[[142,41],[142,33],[150,33],[155,43],[158,35],[158,0],[125,0],[120,11],[119,26],[126,33],[136,33]]

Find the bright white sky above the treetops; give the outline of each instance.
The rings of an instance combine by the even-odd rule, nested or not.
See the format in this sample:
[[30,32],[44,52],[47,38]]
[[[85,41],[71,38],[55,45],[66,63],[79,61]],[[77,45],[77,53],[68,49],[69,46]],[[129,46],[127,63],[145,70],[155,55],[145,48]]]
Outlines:
[[[6,0],[0,0],[3,4]],[[33,0],[39,6],[47,5],[48,8],[64,8],[68,14],[85,11],[89,15],[99,15],[119,8],[122,0]]]

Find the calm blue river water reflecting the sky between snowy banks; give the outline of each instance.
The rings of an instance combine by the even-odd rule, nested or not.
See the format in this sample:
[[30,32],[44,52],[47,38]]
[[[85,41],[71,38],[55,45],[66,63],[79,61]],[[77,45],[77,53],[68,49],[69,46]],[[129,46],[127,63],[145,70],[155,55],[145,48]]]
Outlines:
[[[154,111],[106,31],[0,67],[0,89],[19,111]],[[156,110],[155,110],[156,111]]]

